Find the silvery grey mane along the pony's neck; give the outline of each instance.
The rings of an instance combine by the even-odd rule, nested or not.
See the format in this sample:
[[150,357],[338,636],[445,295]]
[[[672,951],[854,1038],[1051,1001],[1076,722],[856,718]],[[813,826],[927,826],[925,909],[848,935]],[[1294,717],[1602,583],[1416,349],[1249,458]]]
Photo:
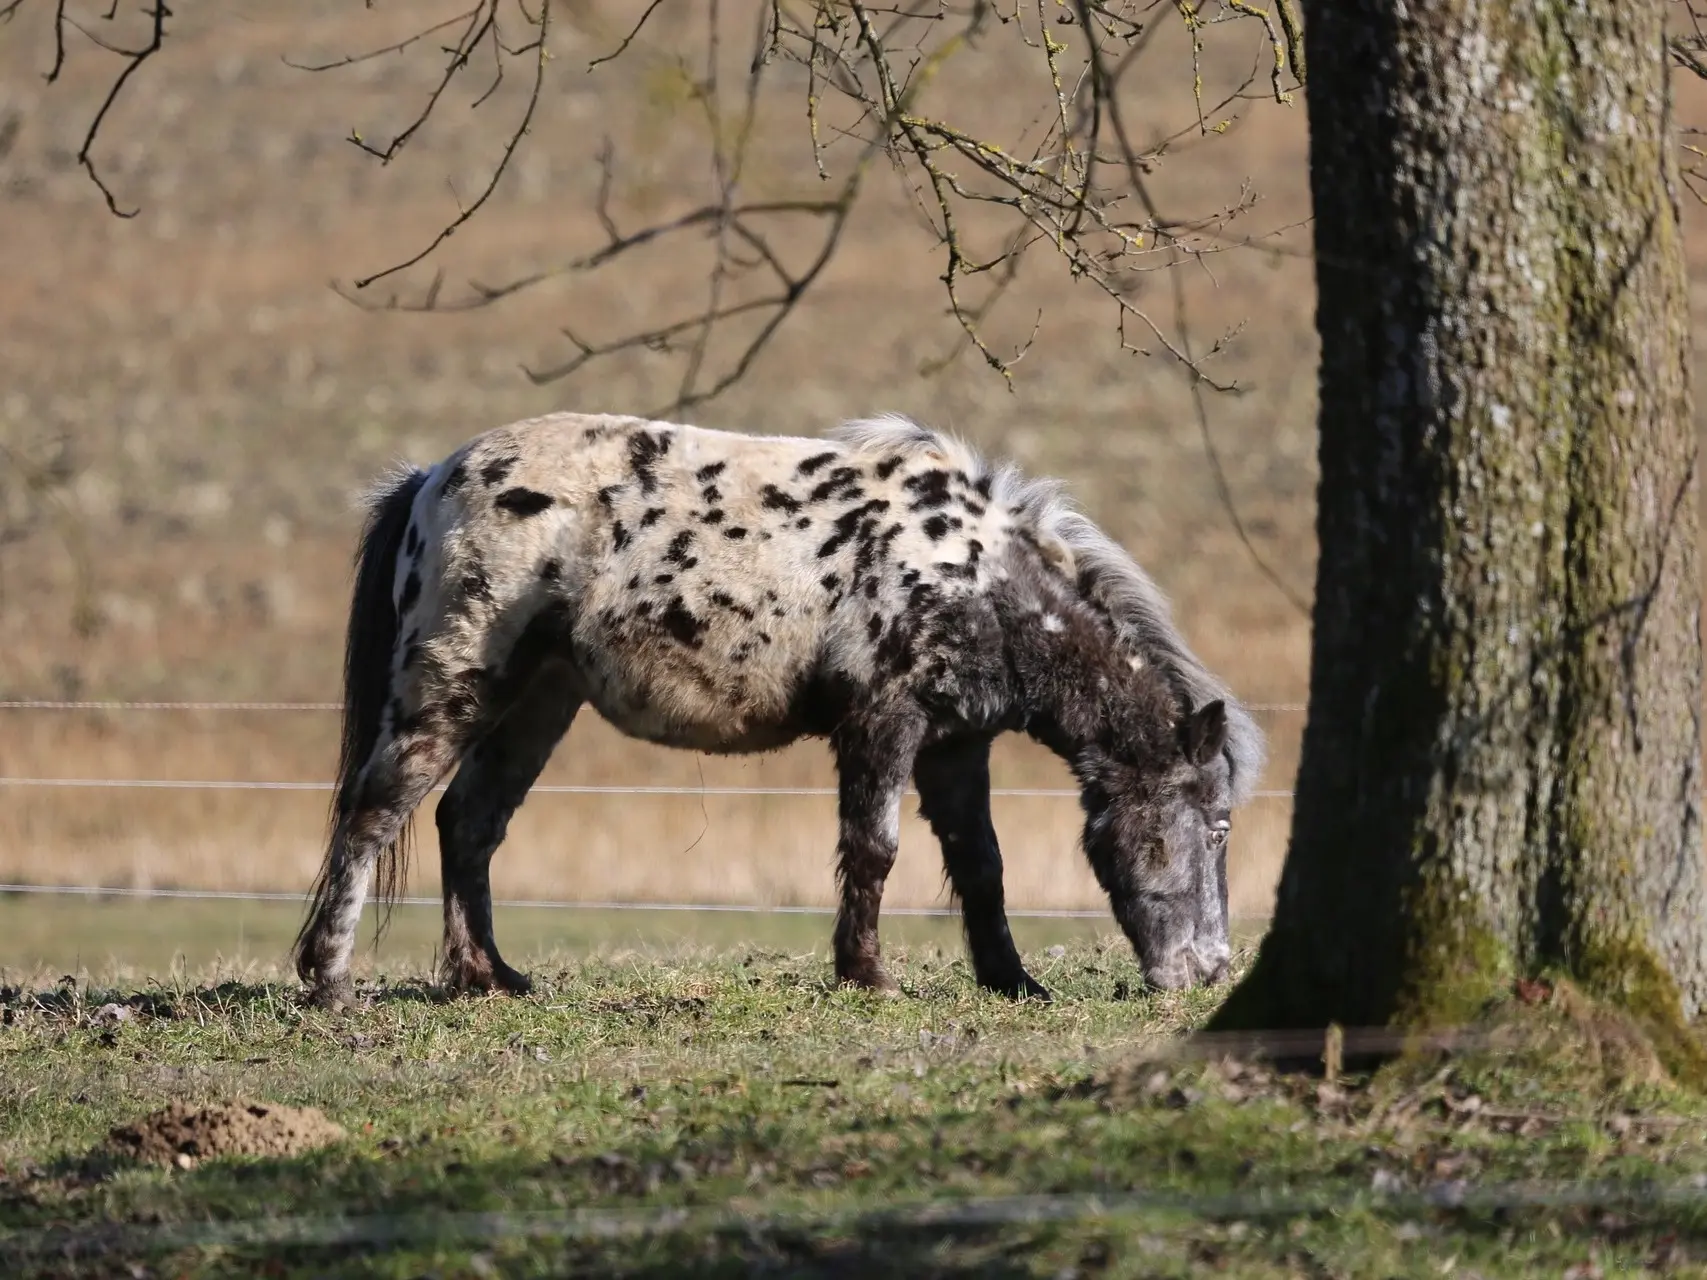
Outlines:
[[830,437],[860,452],[939,452],[970,478],[988,478],[992,502],[1016,510],[1026,521],[1079,594],[1110,616],[1127,649],[1168,672],[1191,710],[1215,700],[1227,705],[1232,799],[1234,804],[1250,799],[1267,756],[1263,730],[1232,691],[1191,652],[1156,580],[1120,543],[1072,505],[1058,481],[1026,476],[1011,463],[992,464],[964,440],[900,415],[845,422]]

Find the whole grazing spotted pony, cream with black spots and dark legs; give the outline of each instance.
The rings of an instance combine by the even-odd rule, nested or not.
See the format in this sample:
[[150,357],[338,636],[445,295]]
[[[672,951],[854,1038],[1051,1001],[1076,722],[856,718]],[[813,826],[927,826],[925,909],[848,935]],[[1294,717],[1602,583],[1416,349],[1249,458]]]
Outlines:
[[347,997],[376,865],[389,899],[410,816],[452,768],[444,978],[527,992],[493,942],[488,865],[582,703],[691,751],[830,739],[847,983],[894,990],[877,911],[912,777],[976,980],[1046,998],[1002,899],[1004,730],[1072,766],[1084,850],[1145,980],[1226,975],[1227,833],[1261,734],[1053,483],[905,418],[794,439],[560,413],[372,497],[331,843],[297,939],[311,998]]

